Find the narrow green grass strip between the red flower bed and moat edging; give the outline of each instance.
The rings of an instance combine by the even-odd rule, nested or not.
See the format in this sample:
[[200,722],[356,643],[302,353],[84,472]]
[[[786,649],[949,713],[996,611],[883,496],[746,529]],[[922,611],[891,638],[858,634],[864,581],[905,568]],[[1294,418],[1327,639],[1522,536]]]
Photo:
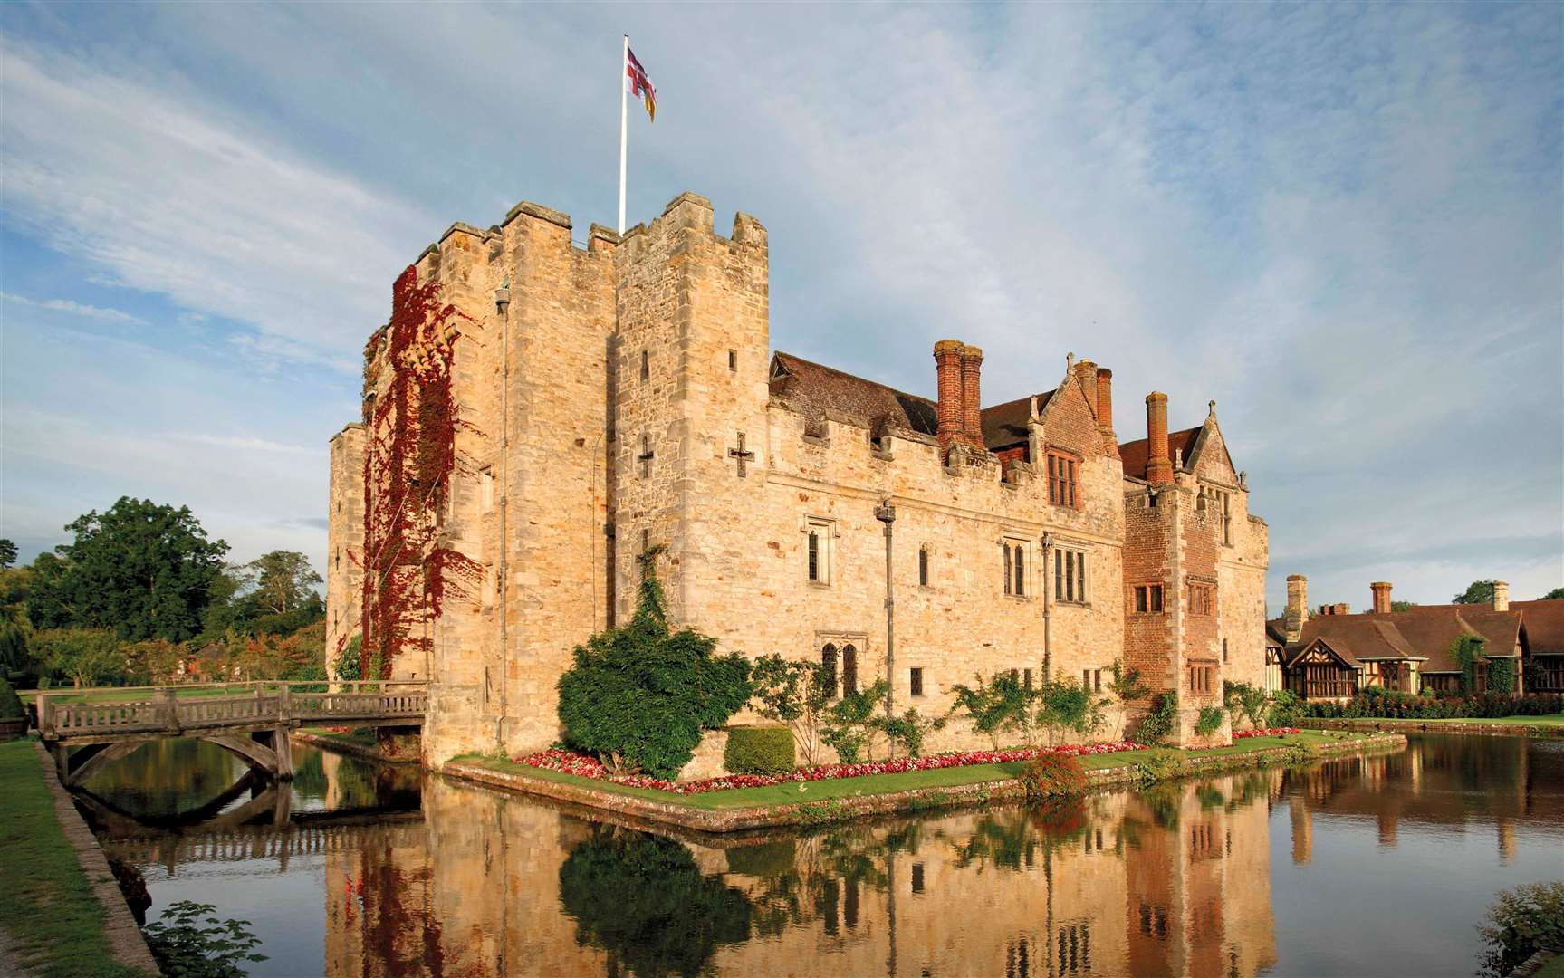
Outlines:
[[[1239,740],[1231,746],[1187,751],[1187,754],[1190,757],[1251,754],[1254,751],[1262,751],[1273,746],[1293,746],[1293,745],[1314,746],[1320,743],[1333,743],[1342,739],[1343,737],[1340,734],[1333,735],[1326,732],[1306,731],[1303,734],[1292,734],[1289,737],[1250,737],[1245,740]],[[1134,764],[1135,760],[1145,759],[1150,753],[1151,751],[1121,751],[1117,754],[1090,754],[1081,757],[1081,765],[1087,770],[1096,770],[1104,767],[1125,767]],[[591,778],[579,778],[576,775],[546,771],[543,768],[535,768],[526,764],[516,764],[513,760],[496,760],[483,754],[465,754],[461,757],[457,757],[457,760],[461,760],[465,764],[472,764],[477,767],[486,767],[496,771],[526,775],[529,778],[538,778],[543,781],[576,784],[599,792],[610,792],[616,795],[633,795],[637,798],[649,798],[652,801],[663,801],[663,803],[683,804],[688,807],[713,809],[713,811],[737,809],[737,807],[769,807],[777,804],[798,804],[802,801],[829,801],[832,798],[854,798],[859,795],[885,795],[891,792],[907,792],[924,787],[959,787],[963,784],[979,784],[984,781],[1004,781],[1006,778],[1015,778],[1018,773],[1021,773],[1021,768],[1026,765],[1024,760],[1012,764],[971,764],[967,767],[948,767],[934,771],[906,771],[902,775],[866,775],[863,778],[840,778],[835,781],[810,781],[810,782],[788,781],[785,784],[773,784],[768,787],[743,787],[727,792],[708,792],[705,795],[676,795],[673,792],[660,792],[657,789],[630,787],[624,784],[613,784],[608,781],[593,781]]]

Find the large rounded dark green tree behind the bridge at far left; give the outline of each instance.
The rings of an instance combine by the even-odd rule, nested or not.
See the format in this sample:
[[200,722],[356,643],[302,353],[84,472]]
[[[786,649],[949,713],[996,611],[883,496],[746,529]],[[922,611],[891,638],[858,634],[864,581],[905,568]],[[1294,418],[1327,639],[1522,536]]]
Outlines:
[[200,631],[228,545],[208,540],[188,507],[122,496],[66,529],[75,540],[55,548],[63,560],[34,576],[34,626],[114,629],[127,642]]

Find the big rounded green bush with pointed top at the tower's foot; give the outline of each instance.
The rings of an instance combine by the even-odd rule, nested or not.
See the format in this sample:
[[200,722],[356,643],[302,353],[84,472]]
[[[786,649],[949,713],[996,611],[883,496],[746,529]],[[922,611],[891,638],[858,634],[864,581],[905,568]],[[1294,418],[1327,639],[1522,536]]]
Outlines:
[[643,557],[635,617],[576,646],[560,676],[566,742],[612,767],[673,779],[690,764],[702,731],[724,726],[749,701],[749,662],[713,656],[716,638],[668,629],[663,588]]

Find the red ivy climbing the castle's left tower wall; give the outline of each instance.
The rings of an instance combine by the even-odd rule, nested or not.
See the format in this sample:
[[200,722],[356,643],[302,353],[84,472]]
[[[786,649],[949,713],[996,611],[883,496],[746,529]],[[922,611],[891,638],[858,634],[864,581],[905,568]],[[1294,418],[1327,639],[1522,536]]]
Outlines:
[[[474,596],[483,582],[480,563],[439,546],[463,426],[450,393],[461,319],[441,302],[439,283],[419,285],[408,266],[393,286],[391,322],[366,351],[364,678],[372,663],[389,678],[397,656],[432,648],[444,602]],[[377,363],[391,371],[378,397]]]

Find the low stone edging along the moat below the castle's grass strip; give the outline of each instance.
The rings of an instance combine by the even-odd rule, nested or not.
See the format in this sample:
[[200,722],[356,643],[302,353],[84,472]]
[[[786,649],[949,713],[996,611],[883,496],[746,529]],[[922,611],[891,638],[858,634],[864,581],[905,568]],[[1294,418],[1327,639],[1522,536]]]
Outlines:
[[[1367,754],[1406,746],[1406,737],[1400,734],[1375,734],[1339,743],[1322,743],[1315,748],[1317,757],[1337,754]],[[1234,771],[1262,767],[1264,762],[1287,754],[1293,748],[1279,746],[1253,751],[1247,754],[1206,754],[1189,757],[1190,775],[1203,771]],[[907,792],[885,792],[877,795],[854,795],[848,798],[830,798],[824,801],[802,801],[798,804],[777,804],[751,809],[701,809],[677,801],[660,801],[638,795],[621,795],[605,792],[585,784],[546,781],[518,771],[497,771],[477,764],[461,760],[447,762],[441,773],[466,781],[543,795],[557,801],[568,801],[586,807],[604,809],[632,818],[677,825],[702,832],[737,832],[744,829],[762,829],[784,825],[820,825],[827,822],[843,822],[859,815],[881,815],[893,812],[912,812],[932,807],[957,807],[970,804],[987,804],[990,801],[1021,801],[1026,790],[1013,778],[999,781],[982,781],[978,784],[960,784],[949,787],[923,787]],[[1087,771],[1090,790],[1103,790],[1121,784],[1139,784],[1140,773],[1131,767],[1109,767]]]

